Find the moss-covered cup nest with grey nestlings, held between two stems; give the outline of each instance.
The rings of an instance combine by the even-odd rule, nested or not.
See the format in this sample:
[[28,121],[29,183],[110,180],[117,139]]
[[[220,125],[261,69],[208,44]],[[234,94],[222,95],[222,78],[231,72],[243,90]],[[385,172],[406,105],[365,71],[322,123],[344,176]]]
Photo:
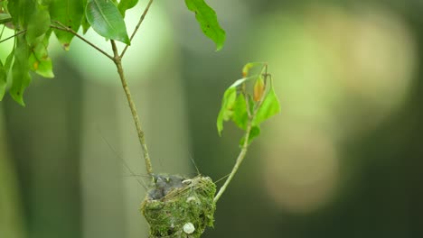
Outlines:
[[216,186],[209,177],[155,175],[141,204],[141,212],[150,224],[150,237],[200,237],[213,225]]

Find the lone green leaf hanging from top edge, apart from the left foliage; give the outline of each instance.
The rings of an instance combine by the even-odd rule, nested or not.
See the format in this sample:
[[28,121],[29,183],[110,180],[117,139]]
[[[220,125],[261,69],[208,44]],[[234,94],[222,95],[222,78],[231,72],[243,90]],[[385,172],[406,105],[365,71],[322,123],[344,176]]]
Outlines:
[[216,50],[221,50],[226,33],[221,29],[214,10],[203,0],[185,0],[186,7],[195,14],[202,32],[216,44]]

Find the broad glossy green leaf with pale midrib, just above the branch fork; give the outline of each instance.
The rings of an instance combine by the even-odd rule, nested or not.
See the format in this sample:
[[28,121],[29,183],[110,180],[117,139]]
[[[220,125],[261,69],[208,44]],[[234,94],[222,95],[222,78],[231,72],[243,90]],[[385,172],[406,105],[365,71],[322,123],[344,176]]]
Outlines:
[[130,44],[127,26],[118,7],[108,0],[90,0],[87,9],[87,20],[92,29],[108,39]]

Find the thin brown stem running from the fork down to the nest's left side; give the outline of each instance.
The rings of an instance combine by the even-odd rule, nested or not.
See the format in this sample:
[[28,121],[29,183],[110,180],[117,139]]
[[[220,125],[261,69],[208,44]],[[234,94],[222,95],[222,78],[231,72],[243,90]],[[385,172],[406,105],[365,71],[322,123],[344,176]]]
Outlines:
[[134,123],[136,125],[136,132],[138,134],[139,143],[141,144],[141,148],[143,149],[144,160],[146,162],[146,171],[148,175],[151,176],[153,174],[153,166],[151,165],[150,155],[148,154],[144,131],[142,130],[141,123],[138,118],[138,114],[136,113],[136,105],[134,103],[134,100],[132,99],[131,92],[129,91],[129,87],[127,86],[127,79],[125,78],[125,74],[122,68],[122,60],[118,54],[118,48],[116,47],[116,42],[113,40],[110,40],[110,42],[111,42],[113,54],[114,54],[113,61],[115,62],[116,67],[118,68],[119,78],[122,83],[122,87],[125,91],[125,95],[127,96],[127,103],[129,104],[129,108],[131,109],[131,113],[132,113],[132,118],[134,119]]

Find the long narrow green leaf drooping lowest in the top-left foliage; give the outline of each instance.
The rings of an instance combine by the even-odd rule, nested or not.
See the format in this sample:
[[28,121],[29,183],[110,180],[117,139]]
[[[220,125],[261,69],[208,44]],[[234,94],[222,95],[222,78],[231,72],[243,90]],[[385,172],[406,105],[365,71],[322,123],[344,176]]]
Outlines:
[[16,37],[16,49],[14,50],[14,66],[12,68],[13,83],[10,95],[20,105],[24,104],[24,90],[31,82],[29,74],[29,47],[24,35]]

